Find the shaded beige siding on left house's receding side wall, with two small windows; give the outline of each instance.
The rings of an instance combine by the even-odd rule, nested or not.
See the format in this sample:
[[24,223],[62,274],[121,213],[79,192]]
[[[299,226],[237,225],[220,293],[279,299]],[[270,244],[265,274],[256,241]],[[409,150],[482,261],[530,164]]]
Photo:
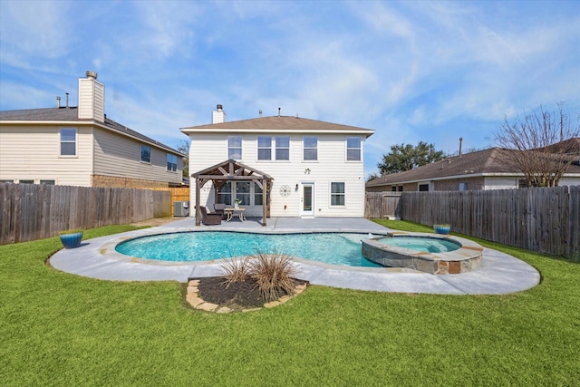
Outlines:
[[[151,162],[140,161],[140,146],[147,145],[151,150]],[[154,146],[133,140],[111,131],[100,128],[94,130],[94,175],[121,178],[121,180],[111,179],[109,181],[130,181],[147,180],[149,187],[158,187],[158,182],[163,182],[167,187],[169,182],[173,184],[181,183],[182,160],[178,158],[178,170],[175,172],[167,170],[167,151],[160,150]],[[100,185],[105,179],[100,178]],[[136,183],[131,183],[136,184]],[[147,187],[148,185],[140,185]],[[121,187],[125,187],[121,185]]]

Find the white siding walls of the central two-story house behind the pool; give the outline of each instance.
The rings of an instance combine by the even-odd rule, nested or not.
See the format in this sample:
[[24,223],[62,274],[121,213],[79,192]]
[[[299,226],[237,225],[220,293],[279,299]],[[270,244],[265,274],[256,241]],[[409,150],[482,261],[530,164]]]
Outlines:
[[[346,138],[350,134],[308,134],[318,138],[318,160],[303,160],[302,134],[276,133],[194,133],[191,134],[189,153],[192,173],[207,169],[227,160],[227,137],[242,137],[242,160],[247,166],[258,169],[272,178],[270,215],[272,217],[298,217],[301,208],[301,184],[314,183],[315,217],[362,217],[364,213],[364,177],[361,161],[346,161]],[[289,136],[290,160],[257,160],[257,136]],[[365,140],[361,138],[361,147]],[[274,144],[273,144],[274,145]],[[361,152],[362,153],[362,152]],[[272,148],[275,157],[275,147]],[[361,156],[362,157],[362,156]],[[344,206],[330,205],[332,182],[344,182]],[[192,186],[194,182],[191,182]],[[290,187],[290,195],[283,196],[280,189]],[[298,189],[296,189],[296,186]],[[201,190],[200,201],[211,208],[214,190],[210,183]],[[195,189],[191,189],[191,202],[195,202]],[[247,208],[247,216],[260,217],[262,206]]]

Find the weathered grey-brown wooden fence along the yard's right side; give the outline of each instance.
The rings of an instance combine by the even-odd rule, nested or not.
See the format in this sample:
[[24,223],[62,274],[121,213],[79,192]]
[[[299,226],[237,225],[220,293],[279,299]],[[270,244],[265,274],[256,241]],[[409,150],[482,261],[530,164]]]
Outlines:
[[[580,186],[401,192],[400,200],[404,220],[449,223],[471,237],[580,262]],[[376,193],[367,193],[366,207],[367,218],[390,215],[377,217],[388,206],[377,204]]]

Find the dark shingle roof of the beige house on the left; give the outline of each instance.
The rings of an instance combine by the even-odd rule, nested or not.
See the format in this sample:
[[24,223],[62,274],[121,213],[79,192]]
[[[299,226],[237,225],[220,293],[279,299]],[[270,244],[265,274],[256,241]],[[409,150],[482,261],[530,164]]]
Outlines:
[[77,107],[60,107],[60,108],[44,108],[44,109],[24,109],[17,111],[0,111],[0,122],[6,123],[5,121],[12,121],[14,123],[24,123],[26,121],[53,121],[53,122],[77,122],[77,123],[92,123],[100,124],[110,131],[118,132],[124,136],[132,137],[136,140],[141,140],[143,142],[150,143],[162,150],[167,150],[170,153],[175,153],[181,157],[184,155],[179,151],[175,150],[157,140],[153,140],[141,134],[138,131],[133,131],[119,122],[112,121],[105,115],[105,121],[93,121],[93,120],[82,120],[79,119],[79,113]]

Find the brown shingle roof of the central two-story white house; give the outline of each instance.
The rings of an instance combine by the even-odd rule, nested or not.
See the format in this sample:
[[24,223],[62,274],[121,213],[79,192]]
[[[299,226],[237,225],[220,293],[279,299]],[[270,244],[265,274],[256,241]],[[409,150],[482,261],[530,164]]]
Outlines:
[[371,129],[358,128],[356,126],[343,125],[333,122],[309,120],[291,116],[258,117],[248,120],[210,123],[206,125],[189,126],[181,128],[188,133],[192,131],[296,131],[296,132],[346,132],[361,133],[369,137],[374,133]]

